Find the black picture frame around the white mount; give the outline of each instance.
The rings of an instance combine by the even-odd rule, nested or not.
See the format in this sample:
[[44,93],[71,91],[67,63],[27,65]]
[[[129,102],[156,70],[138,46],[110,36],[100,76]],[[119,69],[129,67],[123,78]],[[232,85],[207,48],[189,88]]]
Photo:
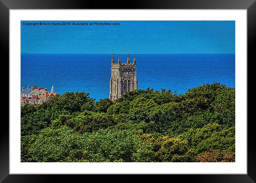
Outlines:
[[[206,183],[255,183],[256,182],[256,141],[252,112],[255,109],[255,92],[252,87],[254,44],[256,41],[256,2],[255,0],[137,0],[137,1],[87,1],[87,0],[0,0],[0,52],[2,69],[2,101],[0,132],[0,182],[3,183],[41,183],[78,182],[89,180],[133,181],[131,175],[74,175],[74,174],[9,174],[9,10],[11,9],[246,9],[247,10],[247,174],[170,174],[143,176],[144,181],[152,176],[179,182]],[[246,64],[246,63],[245,63]],[[6,72],[7,73],[6,73]],[[9,96],[9,97],[6,97]],[[122,176],[122,177],[121,177]],[[134,176],[134,175],[132,175]],[[128,177],[124,179],[124,177]],[[92,178],[92,179],[91,179]]]

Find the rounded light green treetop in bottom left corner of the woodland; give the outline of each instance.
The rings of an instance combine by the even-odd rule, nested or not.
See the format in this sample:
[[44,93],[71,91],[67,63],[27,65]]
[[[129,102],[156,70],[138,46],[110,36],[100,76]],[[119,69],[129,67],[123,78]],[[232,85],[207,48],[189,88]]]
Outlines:
[[[25,138],[29,138],[25,136]],[[31,138],[31,137],[30,137]],[[33,141],[26,141],[28,159],[24,162],[67,162],[82,156],[83,137],[67,126],[58,129],[45,128]]]

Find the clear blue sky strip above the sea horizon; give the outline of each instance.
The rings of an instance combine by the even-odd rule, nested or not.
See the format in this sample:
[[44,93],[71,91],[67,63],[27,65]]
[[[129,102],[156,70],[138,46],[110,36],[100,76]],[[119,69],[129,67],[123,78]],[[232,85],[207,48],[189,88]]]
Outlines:
[[21,53],[235,53],[235,21],[65,21],[120,25],[35,25],[21,21]]

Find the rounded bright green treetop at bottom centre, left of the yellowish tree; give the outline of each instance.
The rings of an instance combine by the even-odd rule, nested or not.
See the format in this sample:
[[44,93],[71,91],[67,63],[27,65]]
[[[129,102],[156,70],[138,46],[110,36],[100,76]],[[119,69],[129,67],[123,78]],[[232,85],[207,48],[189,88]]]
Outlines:
[[87,134],[85,144],[84,162],[132,162],[139,139],[128,130],[99,130]]

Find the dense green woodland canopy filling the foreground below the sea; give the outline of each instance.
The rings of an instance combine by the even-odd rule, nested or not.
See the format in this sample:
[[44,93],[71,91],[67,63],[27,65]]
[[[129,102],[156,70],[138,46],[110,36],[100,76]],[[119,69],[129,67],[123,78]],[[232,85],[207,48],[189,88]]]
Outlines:
[[21,106],[21,162],[235,162],[235,88],[85,92]]

